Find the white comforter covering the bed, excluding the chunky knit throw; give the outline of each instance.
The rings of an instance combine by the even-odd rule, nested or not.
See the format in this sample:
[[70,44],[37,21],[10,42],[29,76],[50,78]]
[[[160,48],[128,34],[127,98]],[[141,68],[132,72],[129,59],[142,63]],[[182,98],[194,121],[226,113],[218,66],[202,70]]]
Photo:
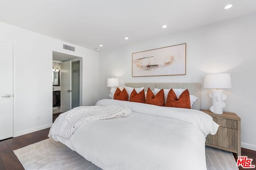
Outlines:
[[70,138],[52,138],[104,170],[206,170],[205,137],[218,130],[209,115],[110,99],[96,105],[126,106],[132,113],[84,123]]

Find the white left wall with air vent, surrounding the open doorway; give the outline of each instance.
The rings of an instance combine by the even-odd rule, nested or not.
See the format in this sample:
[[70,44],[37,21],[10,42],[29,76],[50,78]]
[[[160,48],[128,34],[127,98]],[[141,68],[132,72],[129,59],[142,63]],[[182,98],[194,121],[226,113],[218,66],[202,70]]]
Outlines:
[[[83,58],[82,104],[94,105],[98,100],[98,90],[91,90],[98,89],[98,52],[2,22],[0,40],[16,46],[14,137],[52,125],[52,51]],[[76,47],[76,52],[62,49],[63,43]],[[41,115],[39,121],[36,115]]]

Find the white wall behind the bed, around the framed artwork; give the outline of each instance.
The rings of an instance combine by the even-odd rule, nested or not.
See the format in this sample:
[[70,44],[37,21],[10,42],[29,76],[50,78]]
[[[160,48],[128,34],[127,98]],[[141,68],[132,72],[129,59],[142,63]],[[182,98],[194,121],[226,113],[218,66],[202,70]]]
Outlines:
[[[242,147],[256,150],[256,13],[233,20],[180,32],[165,37],[102,51],[99,53],[99,94],[109,98],[110,88],[106,79],[120,78],[125,82],[200,82],[208,73],[230,73],[231,89],[224,111],[235,112],[241,117]],[[187,44],[186,75],[132,77],[132,53]],[[202,109],[209,109],[210,89],[202,88]]]

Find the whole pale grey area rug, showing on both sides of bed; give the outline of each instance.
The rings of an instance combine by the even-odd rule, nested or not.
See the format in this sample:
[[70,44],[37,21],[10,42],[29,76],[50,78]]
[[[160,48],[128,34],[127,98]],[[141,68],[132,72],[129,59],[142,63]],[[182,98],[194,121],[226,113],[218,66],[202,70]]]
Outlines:
[[[102,170],[77,152],[53,139],[13,151],[25,170]],[[208,170],[238,170],[231,152],[206,147]]]

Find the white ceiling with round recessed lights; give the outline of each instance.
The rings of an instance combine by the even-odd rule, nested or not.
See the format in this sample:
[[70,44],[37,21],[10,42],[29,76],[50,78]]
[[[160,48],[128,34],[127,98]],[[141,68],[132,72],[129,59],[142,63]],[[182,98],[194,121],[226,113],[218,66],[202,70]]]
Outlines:
[[256,0],[0,1],[0,21],[99,51],[254,12]]

